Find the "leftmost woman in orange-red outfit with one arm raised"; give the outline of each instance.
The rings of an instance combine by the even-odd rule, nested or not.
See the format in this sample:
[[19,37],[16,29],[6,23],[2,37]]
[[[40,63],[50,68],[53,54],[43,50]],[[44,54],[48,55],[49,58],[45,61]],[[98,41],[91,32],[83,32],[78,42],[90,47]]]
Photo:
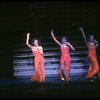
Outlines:
[[45,82],[45,73],[44,73],[44,56],[43,56],[43,48],[39,46],[38,40],[34,40],[34,46],[29,44],[29,35],[27,34],[26,45],[31,48],[32,53],[34,55],[34,75],[31,78],[32,81],[36,82]]

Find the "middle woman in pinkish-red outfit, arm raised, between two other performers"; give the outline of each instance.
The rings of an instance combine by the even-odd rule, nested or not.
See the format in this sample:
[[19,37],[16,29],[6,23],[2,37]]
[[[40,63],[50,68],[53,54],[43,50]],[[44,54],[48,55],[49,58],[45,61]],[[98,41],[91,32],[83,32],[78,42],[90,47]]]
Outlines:
[[65,37],[62,38],[61,43],[55,38],[53,30],[51,31],[52,38],[61,48],[61,60],[60,60],[60,69],[59,76],[61,80],[66,82],[70,81],[70,65],[71,65],[71,56],[69,49],[75,50],[74,47],[67,41]]

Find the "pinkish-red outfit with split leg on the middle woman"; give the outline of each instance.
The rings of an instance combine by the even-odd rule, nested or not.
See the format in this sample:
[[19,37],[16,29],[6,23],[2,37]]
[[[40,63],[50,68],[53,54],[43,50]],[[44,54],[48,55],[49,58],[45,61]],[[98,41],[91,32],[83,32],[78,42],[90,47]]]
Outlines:
[[[65,64],[65,71],[67,74],[70,74],[70,65],[71,65],[71,56],[69,53],[69,47],[68,46],[62,46],[61,47],[61,60],[60,60],[60,64]],[[60,70],[59,70],[59,74],[61,76],[61,70],[62,70],[62,66],[60,66]]]

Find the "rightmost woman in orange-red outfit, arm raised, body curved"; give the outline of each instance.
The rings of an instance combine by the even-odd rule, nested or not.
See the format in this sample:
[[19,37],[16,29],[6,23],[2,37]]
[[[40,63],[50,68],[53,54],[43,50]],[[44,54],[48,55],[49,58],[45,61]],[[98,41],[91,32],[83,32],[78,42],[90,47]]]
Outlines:
[[[88,58],[90,60],[90,66],[89,66],[88,73],[87,73],[86,77],[88,79],[92,79],[92,78],[94,78],[95,75],[100,76],[99,63],[98,63],[97,56],[96,56],[96,48],[98,46],[98,43],[95,40],[93,35],[90,35],[89,41],[87,41],[82,27],[80,27],[80,31],[82,32],[85,43],[87,45]],[[91,80],[91,81],[93,81],[93,80]]]

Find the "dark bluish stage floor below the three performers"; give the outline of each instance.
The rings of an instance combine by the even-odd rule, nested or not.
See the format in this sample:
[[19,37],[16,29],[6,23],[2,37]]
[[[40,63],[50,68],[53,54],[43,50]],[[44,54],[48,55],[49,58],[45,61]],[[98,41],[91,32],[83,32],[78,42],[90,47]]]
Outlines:
[[100,78],[90,82],[74,77],[69,84],[58,77],[48,77],[44,84],[30,79],[1,79],[0,98],[100,98]]

